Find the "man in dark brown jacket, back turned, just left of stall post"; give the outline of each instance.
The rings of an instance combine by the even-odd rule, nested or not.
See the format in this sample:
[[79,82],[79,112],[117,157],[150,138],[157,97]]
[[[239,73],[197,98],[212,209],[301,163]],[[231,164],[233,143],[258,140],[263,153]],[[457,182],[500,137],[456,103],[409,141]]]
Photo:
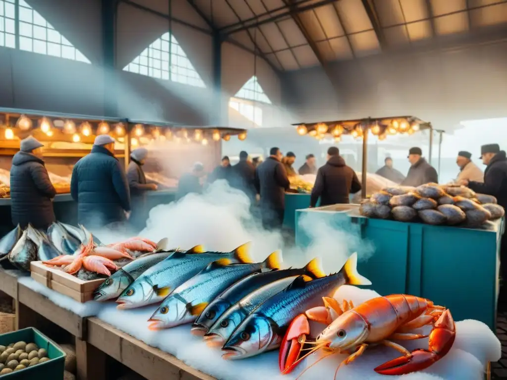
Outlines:
[[355,171],[345,165],[336,146],[328,149],[328,162],[318,169],[313,185],[310,207],[315,207],[320,197],[320,206],[349,203],[350,193],[357,193],[361,183]]

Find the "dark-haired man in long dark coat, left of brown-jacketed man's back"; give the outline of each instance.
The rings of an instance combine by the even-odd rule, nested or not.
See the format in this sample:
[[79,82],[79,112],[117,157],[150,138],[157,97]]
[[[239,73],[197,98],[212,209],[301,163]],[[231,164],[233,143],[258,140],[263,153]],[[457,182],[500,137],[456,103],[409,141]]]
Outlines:
[[271,148],[269,157],[255,172],[255,187],[261,195],[261,218],[265,229],[280,229],[285,213],[285,190],[291,183],[281,163],[280,149]]

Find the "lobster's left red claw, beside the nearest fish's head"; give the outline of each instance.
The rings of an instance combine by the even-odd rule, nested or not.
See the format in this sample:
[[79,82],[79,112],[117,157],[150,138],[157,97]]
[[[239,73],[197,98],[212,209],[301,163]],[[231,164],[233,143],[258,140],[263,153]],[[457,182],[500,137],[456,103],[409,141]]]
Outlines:
[[278,365],[282,374],[291,372],[298,365],[302,356],[301,349],[309,334],[310,325],[304,314],[300,314],[292,320],[282,339],[278,353]]

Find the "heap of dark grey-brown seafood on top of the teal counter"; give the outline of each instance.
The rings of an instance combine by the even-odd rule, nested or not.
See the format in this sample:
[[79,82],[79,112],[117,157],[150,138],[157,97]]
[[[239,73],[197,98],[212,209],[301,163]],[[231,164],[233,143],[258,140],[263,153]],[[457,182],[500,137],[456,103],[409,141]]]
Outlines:
[[465,186],[427,183],[386,187],[361,204],[359,212],[371,218],[475,227],[505,214],[496,203],[495,197]]

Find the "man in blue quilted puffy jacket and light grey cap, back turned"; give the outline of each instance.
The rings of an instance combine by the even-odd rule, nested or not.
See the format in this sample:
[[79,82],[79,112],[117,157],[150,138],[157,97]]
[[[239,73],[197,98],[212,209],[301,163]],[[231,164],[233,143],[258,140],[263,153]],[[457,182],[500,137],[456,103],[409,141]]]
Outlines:
[[113,137],[98,135],[91,153],[72,171],[70,194],[78,202],[78,219],[91,229],[123,222],[130,212],[127,177],[114,149]]

